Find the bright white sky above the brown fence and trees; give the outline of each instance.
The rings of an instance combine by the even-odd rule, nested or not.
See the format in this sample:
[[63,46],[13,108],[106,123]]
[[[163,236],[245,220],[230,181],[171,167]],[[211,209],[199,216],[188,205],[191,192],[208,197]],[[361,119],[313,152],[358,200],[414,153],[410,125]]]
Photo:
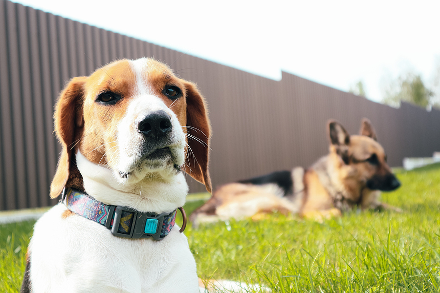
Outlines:
[[439,0],[14,0],[280,80],[281,70],[348,91],[440,68]]

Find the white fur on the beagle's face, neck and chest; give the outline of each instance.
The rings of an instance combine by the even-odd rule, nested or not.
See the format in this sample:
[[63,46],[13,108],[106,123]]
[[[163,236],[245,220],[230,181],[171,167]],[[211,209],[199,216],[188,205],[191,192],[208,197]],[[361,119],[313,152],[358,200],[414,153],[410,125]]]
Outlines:
[[[105,204],[156,213],[171,212],[185,203],[188,192],[182,166],[185,135],[175,113],[156,97],[140,75],[145,59],[132,62],[137,74],[136,97],[118,126],[118,164],[105,167],[76,153],[85,191]],[[135,125],[154,110],[164,110],[173,123],[170,158],[139,162]],[[140,165],[139,165],[140,164]],[[147,166],[148,165],[148,166]],[[152,167],[153,166],[153,167]],[[119,171],[130,174],[122,178]],[[103,225],[82,216],[63,220],[66,207],[58,204],[35,224],[29,245],[33,293],[160,293],[199,291],[196,263],[184,234],[174,227],[161,241],[113,236]]]

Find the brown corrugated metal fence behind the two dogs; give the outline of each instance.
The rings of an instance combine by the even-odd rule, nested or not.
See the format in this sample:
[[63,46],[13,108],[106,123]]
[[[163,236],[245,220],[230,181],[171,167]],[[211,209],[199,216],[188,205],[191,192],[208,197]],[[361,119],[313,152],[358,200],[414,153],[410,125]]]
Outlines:
[[[0,210],[54,204],[48,196],[60,146],[52,112],[70,78],[118,58],[154,57],[197,82],[213,129],[214,187],[309,166],[326,154],[325,125],[354,134],[368,117],[391,166],[440,150],[440,112],[399,109],[283,72],[280,82],[0,0]],[[190,190],[204,187],[188,178]]]

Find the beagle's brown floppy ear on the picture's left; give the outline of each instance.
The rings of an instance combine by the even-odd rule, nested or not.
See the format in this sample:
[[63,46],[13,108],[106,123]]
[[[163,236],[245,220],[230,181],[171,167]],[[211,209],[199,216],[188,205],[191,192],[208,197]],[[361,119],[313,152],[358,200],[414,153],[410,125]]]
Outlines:
[[72,79],[61,93],[55,105],[55,133],[60,141],[62,150],[57,171],[50,185],[51,198],[56,198],[61,193],[69,179],[78,180],[78,178],[72,177],[81,176],[79,174],[72,174],[78,173],[75,166],[72,166],[74,165],[72,164],[72,157],[75,139],[79,138],[79,130],[84,125],[82,103],[86,79],[87,77]]

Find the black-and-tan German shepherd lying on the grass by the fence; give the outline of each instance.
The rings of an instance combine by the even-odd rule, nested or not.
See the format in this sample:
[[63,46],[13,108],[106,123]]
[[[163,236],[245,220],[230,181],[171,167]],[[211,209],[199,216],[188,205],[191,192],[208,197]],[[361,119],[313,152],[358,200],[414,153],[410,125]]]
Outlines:
[[370,120],[363,118],[359,135],[349,135],[337,121],[327,124],[330,152],[307,170],[295,167],[229,183],[191,215],[194,225],[264,212],[298,213],[322,220],[357,209],[394,209],[379,202],[380,191],[400,182],[387,165]]

